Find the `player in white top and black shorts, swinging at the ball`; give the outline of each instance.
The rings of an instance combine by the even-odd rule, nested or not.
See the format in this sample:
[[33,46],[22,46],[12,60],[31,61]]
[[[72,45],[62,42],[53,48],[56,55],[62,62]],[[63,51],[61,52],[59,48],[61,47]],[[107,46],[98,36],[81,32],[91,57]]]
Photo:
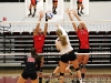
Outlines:
[[78,61],[77,61],[77,55],[74,54],[73,48],[70,44],[69,37],[62,27],[59,27],[58,24],[57,27],[58,27],[58,30],[57,30],[58,39],[56,40],[56,46],[57,46],[57,50],[60,51],[60,55],[61,55],[59,83],[63,83],[64,72],[65,72],[68,61],[70,61],[73,68],[75,69],[78,83],[82,83],[82,77],[81,77],[81,72],[79,69]]

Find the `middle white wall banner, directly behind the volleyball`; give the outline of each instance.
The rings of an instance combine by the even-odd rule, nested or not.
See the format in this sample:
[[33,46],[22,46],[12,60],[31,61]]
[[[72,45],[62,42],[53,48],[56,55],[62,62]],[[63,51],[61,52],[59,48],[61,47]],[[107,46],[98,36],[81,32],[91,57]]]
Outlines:
[[53,18],[49,21],[63,21],[63,0],[46,0],[46,12],[51,11]]

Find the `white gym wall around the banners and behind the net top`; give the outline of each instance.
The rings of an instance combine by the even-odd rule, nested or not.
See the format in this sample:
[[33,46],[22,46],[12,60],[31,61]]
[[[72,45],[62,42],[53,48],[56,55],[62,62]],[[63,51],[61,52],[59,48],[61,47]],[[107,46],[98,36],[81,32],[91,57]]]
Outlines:
[[[70,3],[64,2],[64,9],[69,8]],[[107,2],[90,2],[89,3],[89,15],[88,17],[81,17],[83,21],[98,21],[98,20],[110,20],[109,23],[104,23],[102,25],[102,22],[100,24],[92,24],[92,22],[89,23],[89,30],[110,30],[111,31],[111,1]],[[37,18],[26,18],[26,9],[24,3],[16,3],[16,2],[7,2],[7,3],[0,3],[0,21],[2,21],[3,17],[7,17],[7,21],[37,21]],[[69,18],[67,13],[64,13],[64,21],[69,21]],[[26,25],[28,27],[28,25]],[[34,28],[34,27],[33,27]],[[68,27],[67,27],[68,28]],[[93,29],[95,28],[95,29]],[[100,28],[100,29],[99,29]],[[32,28],[26,28],[19,25],[13,25],[12,31],[32,31]],[[71,30],[72,28],[69,27]],[[52,28],[50,28],[52,30]]]

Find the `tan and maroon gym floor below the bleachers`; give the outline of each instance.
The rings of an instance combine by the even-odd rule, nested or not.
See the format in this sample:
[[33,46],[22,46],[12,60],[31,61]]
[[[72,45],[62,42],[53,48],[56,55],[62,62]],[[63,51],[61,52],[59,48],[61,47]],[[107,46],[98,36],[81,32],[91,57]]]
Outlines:
[[[53,72],[54,69],[51,70],[43,70],[43,75],[50,75]],[[74,76],[75,76],[75,71],[71,69]],[[0,77],[1,76],[20,76],[22,73],[22,70],[20,69],[0,69]],[[59,75],[59,74],[58,74]],[[46,82],[47,79],[43,79],[43,83]],[[65,77],[67,83],[70,83],[69,79]],[[57,77],[51,80],[50,83],[58,83]],[[98,68],[98,69],[91,69],[89,68],[87,70],[87,82],[85,83],[111,83],[111,68]]]

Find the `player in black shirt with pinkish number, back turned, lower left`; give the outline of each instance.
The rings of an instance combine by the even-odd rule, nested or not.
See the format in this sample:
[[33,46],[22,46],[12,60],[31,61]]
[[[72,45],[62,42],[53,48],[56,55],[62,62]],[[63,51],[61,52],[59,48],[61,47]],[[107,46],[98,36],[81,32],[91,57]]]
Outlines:
[[40,70],[42,63],[43,58],[38,55],[36,49],[32,48],[31,55],[26,59],[26,68],[17,83],[24,83],[28,79],[31,80],[31,83],[38,83],[37,71]]

